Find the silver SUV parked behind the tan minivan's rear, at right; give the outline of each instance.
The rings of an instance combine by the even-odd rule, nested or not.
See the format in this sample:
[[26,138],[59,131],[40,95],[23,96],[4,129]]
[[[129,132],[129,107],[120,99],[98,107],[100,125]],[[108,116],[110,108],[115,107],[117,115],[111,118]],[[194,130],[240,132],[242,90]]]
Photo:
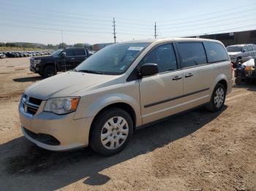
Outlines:
[[234,66],[237,66],[237,63],[240,60],[249,60],[251,58],[256,58],[256,45],[255,44],[235,44],[227,47],[228,55]]

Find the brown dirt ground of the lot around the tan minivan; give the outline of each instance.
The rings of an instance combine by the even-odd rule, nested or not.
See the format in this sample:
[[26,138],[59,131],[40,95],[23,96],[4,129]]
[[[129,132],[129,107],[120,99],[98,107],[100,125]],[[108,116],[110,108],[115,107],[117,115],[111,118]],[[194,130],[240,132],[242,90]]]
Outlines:
[[20,131],[29,58],[0,60],[0,190],[256,190],[256,85],[233,87],[222,112],[170,117],[112,157],[50,152]]

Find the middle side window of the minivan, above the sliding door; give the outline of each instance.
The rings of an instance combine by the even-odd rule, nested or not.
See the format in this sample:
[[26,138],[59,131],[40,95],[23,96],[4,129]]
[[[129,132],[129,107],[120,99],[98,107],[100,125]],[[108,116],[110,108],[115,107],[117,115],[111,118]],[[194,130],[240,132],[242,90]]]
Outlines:
[[206,52],[202,42],[178,42],[183,68],[206,64]]

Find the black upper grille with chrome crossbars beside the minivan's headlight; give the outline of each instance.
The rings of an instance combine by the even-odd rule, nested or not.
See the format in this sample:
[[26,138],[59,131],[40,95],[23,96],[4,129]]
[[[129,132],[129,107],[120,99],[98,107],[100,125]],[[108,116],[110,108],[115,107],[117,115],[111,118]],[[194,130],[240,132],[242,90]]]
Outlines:
[[42,100],[37,98],[29,97],[28,95],[23,95],[22,104],[24,108],[24,112],[29,114],[36,114],[37,110],[42,103]]

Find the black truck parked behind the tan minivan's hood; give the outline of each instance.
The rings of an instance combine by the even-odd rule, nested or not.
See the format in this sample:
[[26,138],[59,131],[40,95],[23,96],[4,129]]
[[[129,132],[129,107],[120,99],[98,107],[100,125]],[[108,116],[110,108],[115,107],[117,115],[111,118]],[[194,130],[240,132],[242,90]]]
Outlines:
[[42,77],[51,77],[57,71],[74,69],[89,57],[89,51],[85,48],[68,47],[59,49],[49,56],[39,56],[30,59],[30,70]]

